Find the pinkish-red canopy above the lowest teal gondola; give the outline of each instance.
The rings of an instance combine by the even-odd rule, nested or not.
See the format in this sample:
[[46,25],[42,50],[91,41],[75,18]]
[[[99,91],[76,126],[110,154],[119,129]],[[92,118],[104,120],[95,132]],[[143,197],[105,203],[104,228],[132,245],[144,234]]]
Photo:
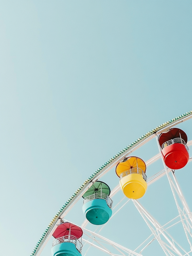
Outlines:
[[79,239],[82,236],[83,231],[80,227],[72,223],[65,222],[58,225],[58,227],[55,229],[55,232],[53,233],[53,237],[59,238],[69,234]]

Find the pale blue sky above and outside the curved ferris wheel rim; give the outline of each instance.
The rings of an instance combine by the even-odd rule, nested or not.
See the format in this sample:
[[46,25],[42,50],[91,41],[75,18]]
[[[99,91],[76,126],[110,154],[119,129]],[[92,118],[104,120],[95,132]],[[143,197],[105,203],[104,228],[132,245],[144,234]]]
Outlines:
[[1,1],[0,34],[1,254],[26,256],[88,176],[192,110],[192,2]]

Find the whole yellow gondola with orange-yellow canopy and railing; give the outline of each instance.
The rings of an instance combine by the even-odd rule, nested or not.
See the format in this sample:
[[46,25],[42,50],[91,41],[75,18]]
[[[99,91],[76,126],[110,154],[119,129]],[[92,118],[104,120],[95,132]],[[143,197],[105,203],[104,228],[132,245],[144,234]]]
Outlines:
[[147,190],[146,164],[138,157],[125,158],[116,166],[119,184],[124,195],[131,199],[141,198]]

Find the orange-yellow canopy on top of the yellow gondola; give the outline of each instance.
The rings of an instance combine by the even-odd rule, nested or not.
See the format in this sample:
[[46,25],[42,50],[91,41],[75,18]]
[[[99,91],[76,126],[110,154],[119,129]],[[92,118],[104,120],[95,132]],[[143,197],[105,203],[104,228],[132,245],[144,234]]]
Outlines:
[[128,158],[125,158],[122,162],[120,162],[117,166],[116,166],[116,174],[118,176],[121,175],[121,173],[126,172],[132,168],[141,168],[141,170],[146,171],[146,164],[145,162],[136,156],[130,156]]

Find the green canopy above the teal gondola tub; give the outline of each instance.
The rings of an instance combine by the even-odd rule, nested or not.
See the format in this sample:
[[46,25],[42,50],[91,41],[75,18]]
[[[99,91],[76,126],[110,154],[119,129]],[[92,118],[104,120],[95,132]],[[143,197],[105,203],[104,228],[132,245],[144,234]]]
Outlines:
[[95,183],[85,192],[82,198],[101,192],[110,195],[111,190],[106,183],[102,181],[95,181]]

